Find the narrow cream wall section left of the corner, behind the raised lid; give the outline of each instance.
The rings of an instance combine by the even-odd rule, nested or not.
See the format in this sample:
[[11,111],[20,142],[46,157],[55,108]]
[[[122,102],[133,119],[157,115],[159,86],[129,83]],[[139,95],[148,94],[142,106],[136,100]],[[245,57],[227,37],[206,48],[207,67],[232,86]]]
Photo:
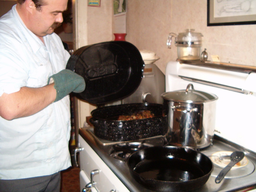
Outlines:
[[[89,44],[113,40],[113,0],[102,0],[100,7],[88,6],[87,0],[72,0],[74,19],[74,50]],[[76,130],[84,126],[94,105],[75,99]]]

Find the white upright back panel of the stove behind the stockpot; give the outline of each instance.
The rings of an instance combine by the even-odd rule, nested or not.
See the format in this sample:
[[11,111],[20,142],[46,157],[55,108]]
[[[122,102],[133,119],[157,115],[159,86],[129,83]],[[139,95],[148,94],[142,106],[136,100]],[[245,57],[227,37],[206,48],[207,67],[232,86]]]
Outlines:
[[215,134],[256,152],[256,68],[204,62],[168,62],[166,91],[195,90],[218,96]]

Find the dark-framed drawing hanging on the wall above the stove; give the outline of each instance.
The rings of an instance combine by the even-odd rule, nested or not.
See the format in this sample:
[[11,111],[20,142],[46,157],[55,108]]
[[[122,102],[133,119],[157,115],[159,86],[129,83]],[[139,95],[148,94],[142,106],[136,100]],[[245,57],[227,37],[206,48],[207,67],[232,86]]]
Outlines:
[[256,24],[255,0],[207,0],[207,26]]

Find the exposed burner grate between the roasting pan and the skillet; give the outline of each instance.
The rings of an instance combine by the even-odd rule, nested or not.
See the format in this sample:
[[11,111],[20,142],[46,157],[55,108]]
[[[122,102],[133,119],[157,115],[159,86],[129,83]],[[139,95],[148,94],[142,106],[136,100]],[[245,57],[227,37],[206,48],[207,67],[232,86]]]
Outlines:
[[113,150],[110,156],[125,162],[127,158],[130,156],[130,154],[150,146],[153,145],[147,144],[146,140],[143,140],[142,142],[128,142],[116,144],[113,145]]

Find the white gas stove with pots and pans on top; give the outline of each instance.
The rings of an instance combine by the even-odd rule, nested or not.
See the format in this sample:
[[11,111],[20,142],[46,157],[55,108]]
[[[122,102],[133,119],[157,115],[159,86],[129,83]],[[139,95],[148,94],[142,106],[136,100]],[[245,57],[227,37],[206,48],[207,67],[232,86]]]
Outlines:
[[[228,172],[220,184],[215,178],[222,169],[214,164],[214,170],[202,188],[196,192],[248,191],[256,188],[256,68],[231,64],[201,62],[168,62],[166,67],[166,91],[184,90],[189,83],[195,90],[212,92],[219,99],[216,109],[216,130],[213,144],[200,152],[211,157],[221,151],[242,150],[248,162],[246,166]],[[98,192],[152,192],[140,185],[130,175],[128,165],[112,154],[114,145],[97,138],[93,127],[79,130],[80,186]],[[163,136],[156,136],[131,143],[166,145]],[[129,143],[129,142],[128,142]],[[121,153],[122,154],[122,153]]]

